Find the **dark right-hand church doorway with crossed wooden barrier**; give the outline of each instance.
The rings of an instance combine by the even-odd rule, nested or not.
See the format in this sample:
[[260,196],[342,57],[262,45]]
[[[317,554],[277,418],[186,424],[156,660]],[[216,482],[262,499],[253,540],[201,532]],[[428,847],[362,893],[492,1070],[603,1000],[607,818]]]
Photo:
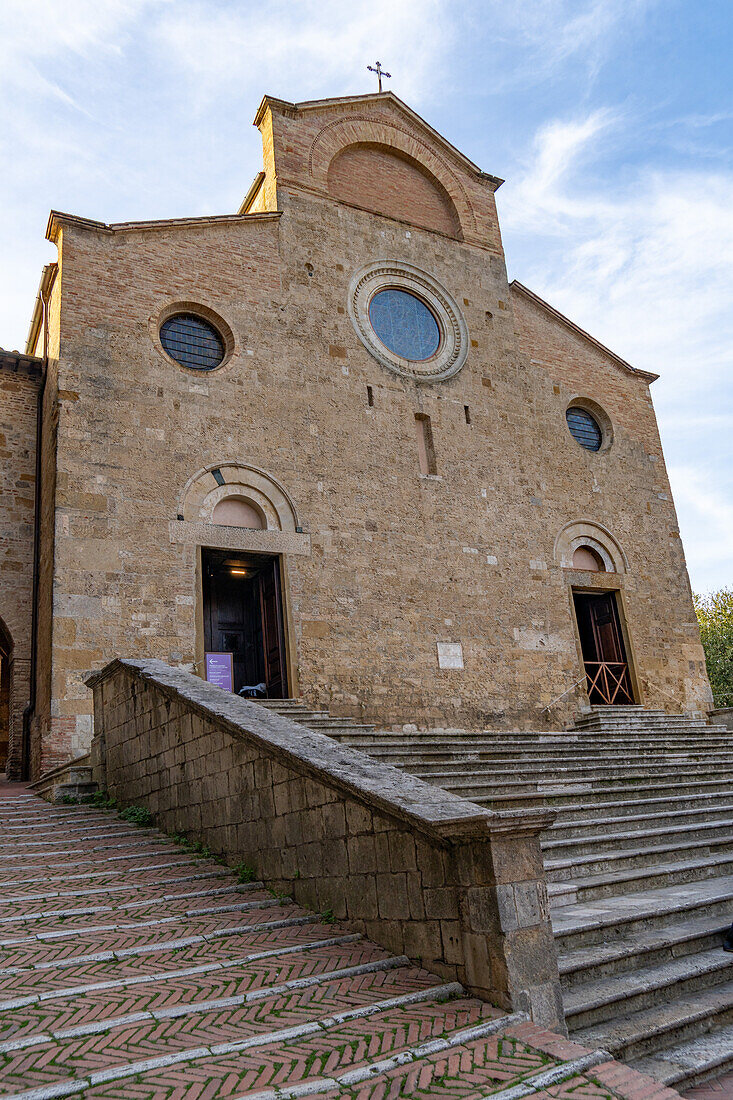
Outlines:
[[615,592],[573,592],[592,704],[634,703]]

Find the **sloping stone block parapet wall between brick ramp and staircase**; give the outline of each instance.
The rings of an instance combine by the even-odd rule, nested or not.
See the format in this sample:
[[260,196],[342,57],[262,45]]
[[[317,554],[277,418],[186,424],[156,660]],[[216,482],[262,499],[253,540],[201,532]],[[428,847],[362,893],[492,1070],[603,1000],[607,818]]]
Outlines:
[[100,785],[397,954],[564,1031],[538,833],[160,661],[95,688]]

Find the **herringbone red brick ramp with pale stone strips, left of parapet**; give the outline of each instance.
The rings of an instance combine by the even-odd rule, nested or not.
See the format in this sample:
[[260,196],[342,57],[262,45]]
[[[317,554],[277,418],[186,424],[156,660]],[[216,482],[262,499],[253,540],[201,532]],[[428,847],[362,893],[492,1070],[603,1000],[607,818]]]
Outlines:
[[306,1094],[677,1097],[154,829],[0,787],[0,1097]]

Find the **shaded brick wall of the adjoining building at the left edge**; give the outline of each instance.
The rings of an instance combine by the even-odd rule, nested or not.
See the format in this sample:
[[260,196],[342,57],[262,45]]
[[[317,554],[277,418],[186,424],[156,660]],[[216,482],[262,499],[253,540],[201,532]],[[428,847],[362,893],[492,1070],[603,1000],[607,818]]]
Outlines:
[[[0,771],[17,778],[30,697],[37,369],[0,355],[0,619],[12,639],[10,723],[0,730]],[[14,362],[14,361],[13,361]],[[6,736],[8,739],[6,739]]]

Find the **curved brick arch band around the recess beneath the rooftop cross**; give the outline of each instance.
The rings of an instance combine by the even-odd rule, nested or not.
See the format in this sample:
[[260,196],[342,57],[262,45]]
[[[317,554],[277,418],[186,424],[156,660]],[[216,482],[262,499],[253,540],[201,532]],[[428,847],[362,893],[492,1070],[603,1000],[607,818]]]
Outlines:
[[308,170],[314,186],[328,190],[331,161],[351,145],[382,146],[420,165],[449,197],[463,234],[472,235],[477,232],[470,199],[448,161],[411,130],[394,122],[352,114],[324,127],[314,138],[308,154]]

